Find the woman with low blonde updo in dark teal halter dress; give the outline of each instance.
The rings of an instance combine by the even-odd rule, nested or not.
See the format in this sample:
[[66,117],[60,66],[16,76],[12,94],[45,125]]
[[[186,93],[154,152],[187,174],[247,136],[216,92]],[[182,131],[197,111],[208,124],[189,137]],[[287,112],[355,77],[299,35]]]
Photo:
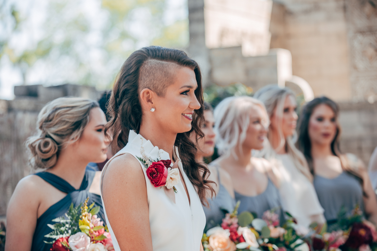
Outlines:
[[106,117],[98,102],[80,97],[60,97],[46,104],[37,120],[37,134],[29,137],[32,170],[20,180],[6,211],[7,251],[48,251],[54,239],[48,224],[64,217],[89,197],[100,206],[100,172],[85,170],[88,162],[106,160],[109,140]]

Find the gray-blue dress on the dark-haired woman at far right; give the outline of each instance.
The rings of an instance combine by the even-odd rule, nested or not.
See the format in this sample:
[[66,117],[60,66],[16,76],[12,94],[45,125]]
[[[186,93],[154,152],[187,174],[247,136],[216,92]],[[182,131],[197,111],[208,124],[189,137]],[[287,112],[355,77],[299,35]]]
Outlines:
[[342,172],[333,179],[314,175],[313,183],[319,202],[325,210],[323,214],[326,221],[336,220],[342,207],[345,207],[348,215],[357,204],[364,212],[362,186],[351,174]]

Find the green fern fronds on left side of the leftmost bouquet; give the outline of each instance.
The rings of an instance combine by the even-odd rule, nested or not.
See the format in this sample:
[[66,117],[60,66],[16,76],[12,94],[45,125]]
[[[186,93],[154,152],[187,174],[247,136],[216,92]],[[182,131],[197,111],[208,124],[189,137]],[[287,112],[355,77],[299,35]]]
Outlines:
[[81,205],[82,203],[80,203],[80,205],[78,205],[77,207],[74,207],[72,203],[67,213],[65,214],[66,218],[58,217],[52,220],[53,222],[57,222],[54,225],[47,224],[52,229],[52,232],[46,234],[44,237],[52,238],[54,239],[54,241],[44,241],[45,243],[54,243],[55,240],[61,237],[70,236],[72,234],[80,232],[80,228],[78,227],[78,221],[80,220]]

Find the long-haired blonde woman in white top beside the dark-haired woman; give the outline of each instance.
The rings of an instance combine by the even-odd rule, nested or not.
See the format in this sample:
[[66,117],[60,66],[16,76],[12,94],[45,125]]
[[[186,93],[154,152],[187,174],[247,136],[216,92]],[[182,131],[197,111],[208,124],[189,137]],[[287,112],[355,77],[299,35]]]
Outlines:
[[288,88],[268,85],[258,90],[254,97],[264,103],[271,121],[261,156],[274,163],[284,211],[304,227],[312,222],[322,226],[325,218],[312,184],[313,176],[305,157],[294,145],[298,119],[295,94]]

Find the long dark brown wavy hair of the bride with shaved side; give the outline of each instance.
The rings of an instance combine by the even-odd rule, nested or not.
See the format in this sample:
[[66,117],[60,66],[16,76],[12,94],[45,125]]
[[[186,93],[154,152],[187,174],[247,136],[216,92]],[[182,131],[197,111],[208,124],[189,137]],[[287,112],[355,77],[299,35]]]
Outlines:
[[144,62],[153,59],[173,62],[179,66],[188,67],[195,72],[195,78],[198,84],[198,88],[195,90],[195,96],[201,108],[194,110],[191,130],[177,134],[175,146],[179,149],[183,169],[196,188],[202,204],[208,205],[208,201],[205,198],[206,190],[210,190],[211,195],[215,193],[210,186],[212,182],[207,180],[210,171],[204,164],[196,162],[195,155],[197,149],[195,144],[190,141],[189,137],[192,131],[195,131],[200,137],[204,137],[200,127],[204,122],[202,77],[198,63],[189,58],[185,52],[160,46],[149,46],[136,50],[127,58],[113,86],[107,107],[110,121],[105,126],[105,134],[107,130],[113,132],[111,146],[113,153],[116,153],[126,146],[130,130],[139,133],[142,116],[138,91],[140,68]]

